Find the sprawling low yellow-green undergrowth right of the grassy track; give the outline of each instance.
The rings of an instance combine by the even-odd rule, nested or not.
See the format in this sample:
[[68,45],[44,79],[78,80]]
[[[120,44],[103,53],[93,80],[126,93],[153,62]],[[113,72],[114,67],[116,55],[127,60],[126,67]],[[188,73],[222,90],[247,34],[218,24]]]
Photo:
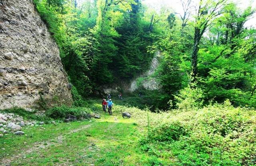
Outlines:
[[151,113],[153,128],[141,138],[141,149],[156,157],[175,158],[175,166],[252,166],[256,164],[255,115],[255,110],[234,108],[229,101],[188,112]]

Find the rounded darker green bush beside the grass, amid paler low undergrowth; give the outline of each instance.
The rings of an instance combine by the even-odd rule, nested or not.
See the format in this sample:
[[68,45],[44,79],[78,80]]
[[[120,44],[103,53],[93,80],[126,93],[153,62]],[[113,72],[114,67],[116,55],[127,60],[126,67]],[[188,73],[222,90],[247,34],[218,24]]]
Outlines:
[[180,136],[186,134],[185,127],[179,122],[164,123],[156,126],[151,131],[151,140],[165,142],[178,140]]

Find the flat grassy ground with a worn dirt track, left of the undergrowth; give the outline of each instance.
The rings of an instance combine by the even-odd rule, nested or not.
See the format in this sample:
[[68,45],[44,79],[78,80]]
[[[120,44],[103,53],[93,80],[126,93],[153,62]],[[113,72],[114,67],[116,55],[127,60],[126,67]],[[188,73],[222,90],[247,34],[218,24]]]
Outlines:
[[[97,105],[97,110],[101,106]],[[101,119],[24,129],[27,135],[1,138],[1,166],[145,166],[133,119]]]

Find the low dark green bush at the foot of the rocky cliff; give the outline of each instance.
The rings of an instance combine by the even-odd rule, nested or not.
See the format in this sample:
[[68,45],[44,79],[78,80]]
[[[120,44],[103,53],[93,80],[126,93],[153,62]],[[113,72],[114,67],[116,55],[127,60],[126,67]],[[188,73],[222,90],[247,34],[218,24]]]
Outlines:
[[53,119],[65,119],[67,115],[71,114],[78,119],[89,118],[90,110],[87,108],[70,108],[67,106],[54,107],[46,110],[45,115]]

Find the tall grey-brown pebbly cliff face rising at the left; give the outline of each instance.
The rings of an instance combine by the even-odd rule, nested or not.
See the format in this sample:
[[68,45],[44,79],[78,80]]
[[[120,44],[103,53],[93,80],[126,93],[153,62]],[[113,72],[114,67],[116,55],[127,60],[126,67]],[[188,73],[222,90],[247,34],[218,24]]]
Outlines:
[[40,94],[69,105],[70,88],[32,0],[0,0],[0,109],[34,106]]

